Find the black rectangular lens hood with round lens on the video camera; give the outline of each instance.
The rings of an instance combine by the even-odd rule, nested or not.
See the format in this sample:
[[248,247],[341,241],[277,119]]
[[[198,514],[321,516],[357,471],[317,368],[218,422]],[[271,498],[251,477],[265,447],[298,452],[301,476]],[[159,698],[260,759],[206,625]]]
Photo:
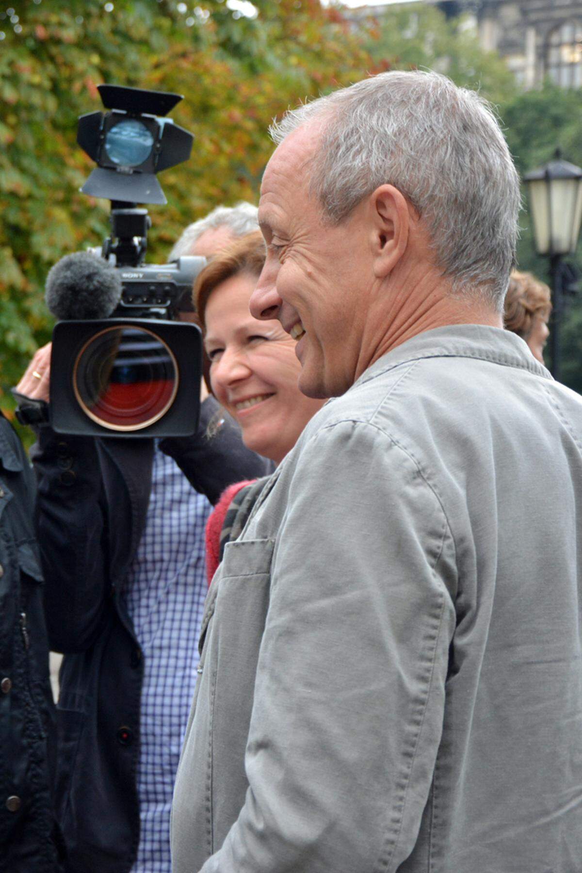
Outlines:
[[198,427],[202,341],[159,319],[59,321],[51,426],[86,436],[190,436]]

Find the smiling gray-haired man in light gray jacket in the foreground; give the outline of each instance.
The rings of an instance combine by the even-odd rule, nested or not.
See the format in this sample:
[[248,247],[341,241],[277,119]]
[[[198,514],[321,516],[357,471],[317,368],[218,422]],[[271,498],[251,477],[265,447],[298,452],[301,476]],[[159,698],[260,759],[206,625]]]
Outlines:
[[390,72],[275,138],[251,312],[341,396],[213,581],[175,873],[574,873],[582,402],[502,329],[503,136]]

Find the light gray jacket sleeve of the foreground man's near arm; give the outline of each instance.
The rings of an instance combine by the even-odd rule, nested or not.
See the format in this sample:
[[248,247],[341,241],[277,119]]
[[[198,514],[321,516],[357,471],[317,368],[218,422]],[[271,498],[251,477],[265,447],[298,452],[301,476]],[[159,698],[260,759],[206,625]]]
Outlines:
[[250,787],[202,873],[394,873],[428,801],[455,629],[454,544],[414,459],[367,423],[313,436],[270,580]]

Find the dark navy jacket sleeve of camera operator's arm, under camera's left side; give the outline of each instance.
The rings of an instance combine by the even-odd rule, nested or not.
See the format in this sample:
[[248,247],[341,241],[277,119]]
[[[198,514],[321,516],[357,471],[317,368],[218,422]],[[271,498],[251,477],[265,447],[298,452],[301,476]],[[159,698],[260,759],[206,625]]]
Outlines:
[[35,520],[51,649],[86,650],[108,607],[106,509],[96,443],[37,430]]

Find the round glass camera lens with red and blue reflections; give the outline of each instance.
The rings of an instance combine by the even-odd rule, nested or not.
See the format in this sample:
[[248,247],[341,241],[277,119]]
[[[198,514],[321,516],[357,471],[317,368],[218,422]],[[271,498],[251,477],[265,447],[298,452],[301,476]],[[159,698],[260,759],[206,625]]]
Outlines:
[[174,354],[142,327],[96,333],[77,355],[72,378],[81,409],[108,430],[140,430],[157,422],[178,389]]

